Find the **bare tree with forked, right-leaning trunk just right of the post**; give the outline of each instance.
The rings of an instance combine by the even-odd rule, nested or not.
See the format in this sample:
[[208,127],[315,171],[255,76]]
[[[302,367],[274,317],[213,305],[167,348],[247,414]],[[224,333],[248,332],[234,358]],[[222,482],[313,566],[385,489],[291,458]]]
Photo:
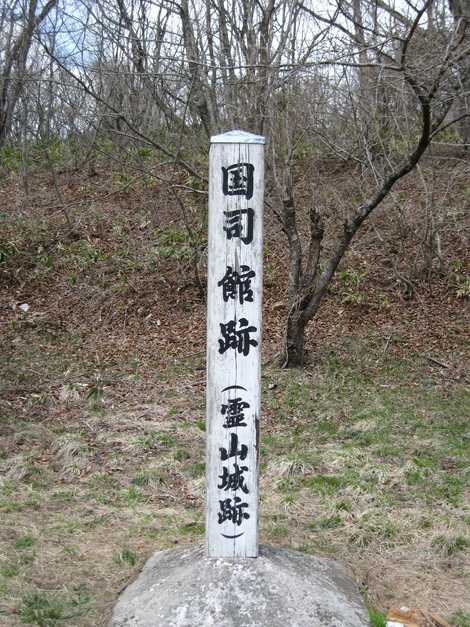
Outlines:
[[[281,222],[287,235],[290,256],[289,311],[282,359],[284,366],[297,366],[304,362],[305,329],[317,314],[330,281],[358,230],[387,198],[397,181],[419,163],[433,137],[455,122],[446,120],[453,100],[460,93],[455,80],[455,68],[468,58],[470,49],[459,32],[458,25],[453,28],[447,25],[440,37],[433,35],[427,45],[429,31],[423,29],[422,24],[428,15],[429,4],[429,0],[422,2],[420,8],[414,10],[414,15],[401,20],[399,31],[394,35],[394,39],[400,44],[396,57],[393,55],[393,48],[387,50],[383,41],[381,54],[382,58],[387,58],[386,65],[366,62],[361,56],[358,60],[353,56],[346,62],[341,61],[343,66],[356,68],[359,73],[364,67],[371,67],[376,71],[387,72],[389,76],[396,76],[396,85],[402,84],[406,89],[407,99],[415,111],[412,116],[415,119],[411,123],[411,129],[408,129],[409,149],[385,149],[381,159],[376,155],[372,158],[372,153],[362,160],[358,159],[357,154],[347,155],[360,164],[358,174],[365,190],[364,199],[357,206],[351,204],[346,208],[343,224],[336,225],[336,231],[333,229],[332,241],[328,247],[324,246],[325,218],[328,216],[323,215],[321,209],[315,205],[309,208],[308,243],[306,246],[302,245],[292,183],[293,149],[292,145],[289,146],[283,168],[283,181],[278,181],[282,196]],[[330,20],[331,27],[349,35],[347,26],[343,21],[337,22],[337,19],[335,16]],[[357,40],[357,28],[354,40]],[[354,98],[353,94],[351,96]],[[353,124],[356,123],[354,116],[350,119]],[[407,123],[410,123],[409,120]],[[415,128],[419,131],[419,137],[412,145],[409,136],[413,135]],[[371,141],[370,137],[368,141]],[[291,139],[290,142],[292,143]],[[330,145],[335,145],[334,136],[330,138]],[[338,153],[345,154],[341,142],[338,142],[337,149]]]

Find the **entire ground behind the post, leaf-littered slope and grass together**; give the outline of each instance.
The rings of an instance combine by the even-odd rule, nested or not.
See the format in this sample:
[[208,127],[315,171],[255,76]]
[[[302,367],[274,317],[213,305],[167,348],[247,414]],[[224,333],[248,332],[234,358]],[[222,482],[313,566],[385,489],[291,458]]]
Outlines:
[[[160,183],[102,201],[108,172],[64,174],[65,202],[83,201],[71,232],[37,182],[27,212],[2,196],[0,622],[101,627],[151,553],[203,541],[205,303]],[[413,189],[417,212],[416,200]],[[199,205],[185,202],[199,231]],[[392,255],[385,214],[396,222],[379,218],[377,252],[406,270],[419,251],[400,242]],[[267,227],[269,352],[285,324],[285,251]],[[346,561],[377,626],[408,605],[468,627],[465,242],[442,233],[462,280],[436,277],[405,303],[389,265],[366,269],[370,237],[311,329],[314,365],[263,369],[261,541]]]

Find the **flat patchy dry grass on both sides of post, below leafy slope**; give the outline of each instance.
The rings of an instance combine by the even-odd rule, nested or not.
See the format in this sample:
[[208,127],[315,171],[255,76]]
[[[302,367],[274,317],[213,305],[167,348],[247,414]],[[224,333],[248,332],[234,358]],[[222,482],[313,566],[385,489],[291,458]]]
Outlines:
[[[136,378],[134,354],[98,364],[77,340],[60,356],[44,327],[14,333],[7,368],[26,391],[0,421],[0,612],[15,626],[105,625],[152,552],[203,541],[201,358],[139,362]],[[261,541],[346,561],[373,625],[380,608],[422,605],[466,627],[468,389],[369,340],[346,338],[303,371],[264,370]]]

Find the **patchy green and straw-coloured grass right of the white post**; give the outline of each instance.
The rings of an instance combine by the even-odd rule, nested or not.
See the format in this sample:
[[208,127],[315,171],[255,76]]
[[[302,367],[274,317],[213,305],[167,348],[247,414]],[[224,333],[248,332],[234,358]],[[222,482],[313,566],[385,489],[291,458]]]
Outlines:
[[437,577],[442,597],[470,604],[469,390],[416,382],[410,360],[375,366],[372,377],[367,359],[353,368],[330,355],[310,372],[277,374],[262,453],[278,463],[265,467],[263,511],[292,512],[288,543],[347,555],[384,605],[390,596],[417,604],[396,580],[400,559],[420,579]]

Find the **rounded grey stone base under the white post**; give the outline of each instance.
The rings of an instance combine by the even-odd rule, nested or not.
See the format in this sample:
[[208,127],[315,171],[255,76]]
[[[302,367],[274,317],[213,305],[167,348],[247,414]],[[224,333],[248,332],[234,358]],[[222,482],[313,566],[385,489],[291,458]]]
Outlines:
[[344,566],[261,547],[256,559],[214,559],[203,547],[155,553],[122,593],[110,627],[368,627]]

